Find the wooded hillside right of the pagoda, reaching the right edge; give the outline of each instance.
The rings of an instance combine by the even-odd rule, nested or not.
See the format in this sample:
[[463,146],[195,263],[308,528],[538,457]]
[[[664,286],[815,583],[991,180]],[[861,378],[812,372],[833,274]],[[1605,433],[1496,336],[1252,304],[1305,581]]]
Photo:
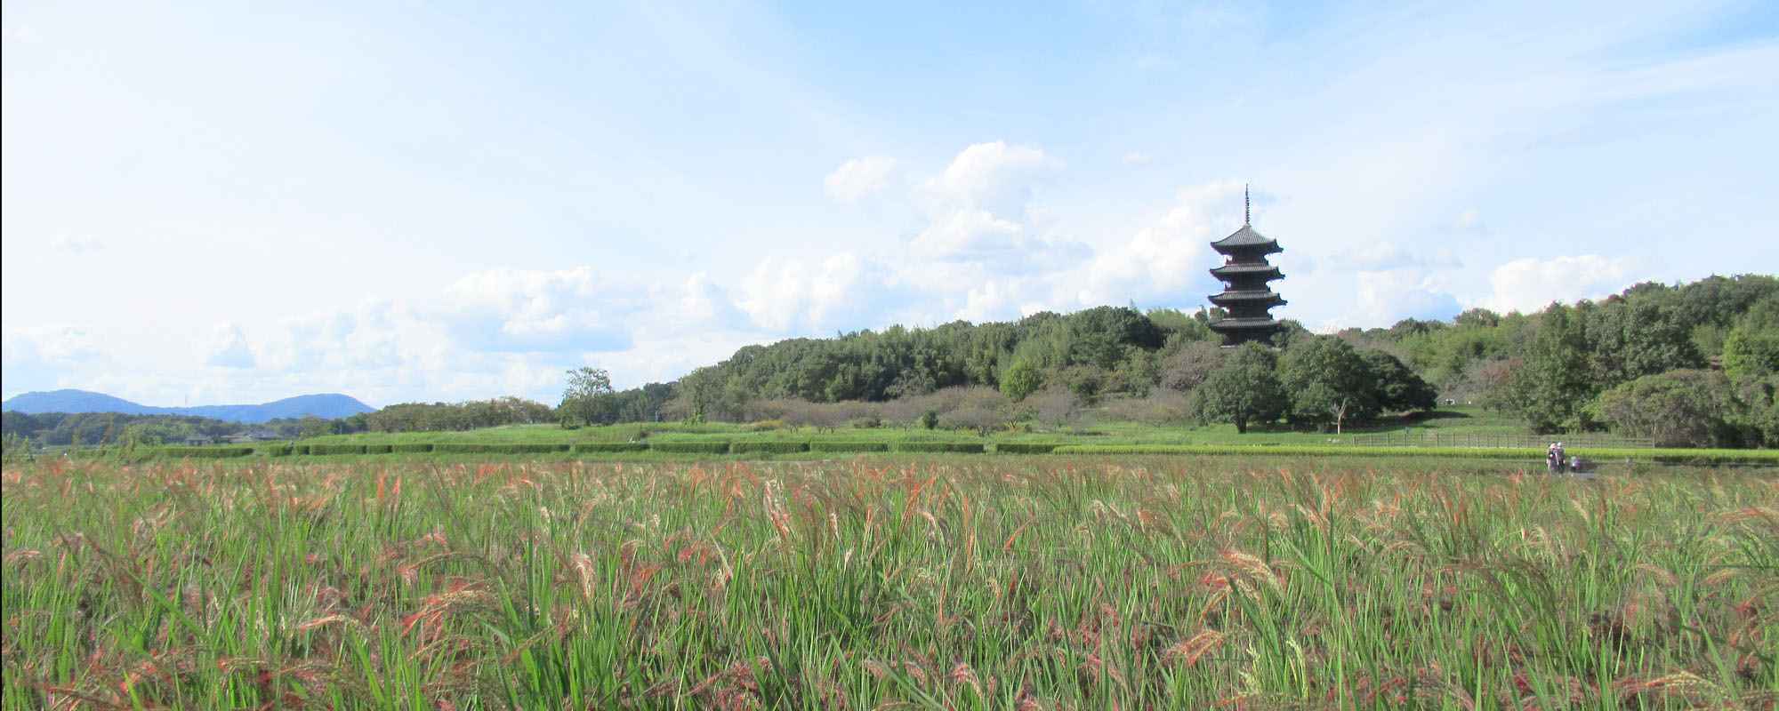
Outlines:
[[1779,279],[1765,274],[1340,336],[1400,354],[1441,393],[1517,414],[1533,432],[1779,444]]

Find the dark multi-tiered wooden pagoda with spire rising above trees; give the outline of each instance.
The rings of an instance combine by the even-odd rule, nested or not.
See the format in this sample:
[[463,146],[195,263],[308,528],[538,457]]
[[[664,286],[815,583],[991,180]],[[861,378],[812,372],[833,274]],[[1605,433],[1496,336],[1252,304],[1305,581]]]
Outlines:
[[1277,267],[1267,263],[1267,254],[1284,249],[1254,231],[1247,188],[1242,188],[1242,229],[1211,242],[1211,249],[1224,256],[1224,265],[1211,270],[1213,277],[1222,279],[1224,293],[1213,295],[1211,304],[1229,311],[1229,316],[1210,327],[1222,334],[1226,348],[1247,341],[1270,343],[1281,327],[1267,311],[1284,306],[1284,299],[1267,286],[1268,281],[1284,279]]

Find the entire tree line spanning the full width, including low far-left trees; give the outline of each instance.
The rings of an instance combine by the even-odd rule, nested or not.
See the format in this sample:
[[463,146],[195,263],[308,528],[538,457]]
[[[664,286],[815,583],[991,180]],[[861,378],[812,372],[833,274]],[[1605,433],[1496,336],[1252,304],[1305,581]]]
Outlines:
[[238,425],[190,416],[5,412],[7,439],[37,444],[174,443],[269,428],[343,432],[564,427],[662,419],[1062,423],[1085,407],[1149,421],[1288,423],[1341,430],[1437,400],[1487,405],[1533,432],[1612,430],[1662,444],[1779,443],[1779,279],[1637,284],[1601,300],[1523,315],[1316,336],[1295,322],[1276,348],[1220,348],[1219,309],[1094,308],[1016,322],[890,327],[751,345],[676,382],[614,389],[569,371],[557,407],[523,398],[395,403],[343,419]]

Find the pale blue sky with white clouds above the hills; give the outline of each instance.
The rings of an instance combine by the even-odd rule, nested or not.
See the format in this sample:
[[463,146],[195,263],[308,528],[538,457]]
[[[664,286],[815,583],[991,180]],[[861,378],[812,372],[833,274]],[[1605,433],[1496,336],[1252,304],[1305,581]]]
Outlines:
[[4,7],[4,393],[667,380],[790,336],[1195,309],[1320,331],[1779,272],[1779,9]]

